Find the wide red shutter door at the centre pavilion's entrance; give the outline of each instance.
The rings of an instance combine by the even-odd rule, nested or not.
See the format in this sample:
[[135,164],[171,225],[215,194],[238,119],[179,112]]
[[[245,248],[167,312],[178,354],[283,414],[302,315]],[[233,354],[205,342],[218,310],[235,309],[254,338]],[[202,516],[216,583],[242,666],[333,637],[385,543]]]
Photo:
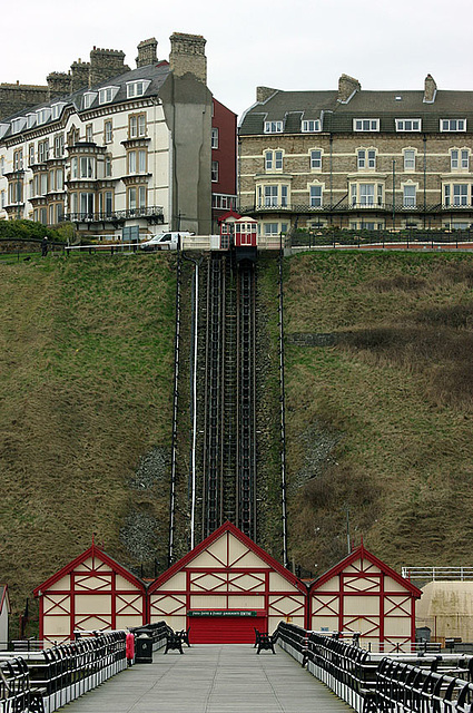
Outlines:
[[191,644],[254,644],[255,628],[267,631],[264,616],[189,616]]

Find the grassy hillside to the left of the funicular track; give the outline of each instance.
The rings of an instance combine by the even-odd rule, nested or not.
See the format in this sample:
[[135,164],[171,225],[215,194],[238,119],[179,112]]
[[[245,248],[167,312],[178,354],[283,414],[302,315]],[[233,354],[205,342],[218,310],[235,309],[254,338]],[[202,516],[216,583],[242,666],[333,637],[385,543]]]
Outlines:
[[0,580],[18,606],[92,533],[130,565],[166,551],[175,272],[33,258],[0,283]]

